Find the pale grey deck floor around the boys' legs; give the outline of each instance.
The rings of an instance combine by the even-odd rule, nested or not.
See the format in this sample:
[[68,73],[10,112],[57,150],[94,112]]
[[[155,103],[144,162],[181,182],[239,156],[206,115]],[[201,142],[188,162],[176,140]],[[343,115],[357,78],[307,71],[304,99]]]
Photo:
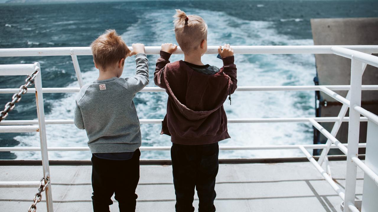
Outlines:
[[[332,177],[344,186],[345,161],[330,163]],[[1,181],[38,181],[42,175],[40,166],[0,166],[0,169]],[[54,211],[92,211],[91,166],[51,166],[50,170]],[[358,170],[357,176],[356,197],[361,199],[363,172]],[[309,162],[221,164],[215,189],[215,207],[220,212],[341,212],[341,198]],[[1,211],[26,211],[36,191],[36,188],[0,188]],[[137,211],[174,211],[172,166],[142,165],[137,194]],[[197,209],[197,196],[194,206]],[[118,211],[115,200],[110,210]],[[37,212],[42,211],[46,211],[44,202],[37,204]]]

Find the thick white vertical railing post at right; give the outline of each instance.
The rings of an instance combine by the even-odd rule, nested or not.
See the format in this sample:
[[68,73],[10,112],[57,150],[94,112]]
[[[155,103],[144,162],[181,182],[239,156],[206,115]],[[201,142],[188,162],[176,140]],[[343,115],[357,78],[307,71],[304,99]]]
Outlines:
[[[358,157],[359,142],[359,118],[360,114],[355,111],[355,106],[361,106],[361,84],[363,74],[363,63],[354,59],[352,55],[352,65],[350,73],[350,108],[349,108],[349,128],[348,128],[348,154],[347,154],[347,174],[345,178],[345,199],[344,206],[348,203],[355,203],[357,166],[352,161],[352,157]],[[349,207],[344,207],[344,212],[350,212]]]

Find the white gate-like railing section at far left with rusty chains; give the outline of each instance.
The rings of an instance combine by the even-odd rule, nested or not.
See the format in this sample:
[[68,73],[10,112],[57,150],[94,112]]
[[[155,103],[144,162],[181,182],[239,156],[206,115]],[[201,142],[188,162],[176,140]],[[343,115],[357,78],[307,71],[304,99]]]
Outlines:
[[[39,132],[40,137],[40,151],[42,154],[42,168],[43,168],[43,178],[40,182],[36,181],[8,181],[0,182],[0,187],[34,187],[39,184],[39,192],[34,196],[33,204],[29,207],[28,211],[36,211],[36,204],[42,199],[41,192],[44,190],[46,194],[46,207],[48,212],[53,211],[53,198],[51,195],[51,184],[50,182],[50,168],[48,161],[48,150],[46,142],[46,124],[45,124],[45,111],[43,108],[43,93],[42,93],[42,78],[40,73],[39,63],[34,64],[23,64],[23,65],[0,65],[0,76],[1,75],[28,75],[28,78],[34,78],[34,93],[36,95],[37,103],[37,116],[38,125],[21,125],[21,126],[0,126],[0,132]],[[31,76],[32,77],[31,77]],[[25,86],[21,86],[18,93],[25,94],[31,81],[27,80]],[[15,99],[17,97],[17,99]],[[13,96],[13,100],[18,102],[20,96],[17,94]],[[12,101],[13,102],[13,101]],[[14,107],[14,105],[12,106]],[[1,123],[1,122],[0,122]]]

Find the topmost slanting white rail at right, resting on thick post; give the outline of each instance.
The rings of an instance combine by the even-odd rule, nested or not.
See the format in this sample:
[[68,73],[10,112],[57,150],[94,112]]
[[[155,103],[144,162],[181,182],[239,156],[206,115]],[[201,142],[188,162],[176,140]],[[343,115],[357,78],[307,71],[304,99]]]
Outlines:
[[333,46],[332,51],[335,54],[340,55],[342,57],[346,57],[349,59],[352,59],[353,57],[353,59],[378,67],[378,57],[373,56],[371,54],[366,54],[361,51],[355,51],[350,48],[345,48],[345,47],[340,47],[340,46]]

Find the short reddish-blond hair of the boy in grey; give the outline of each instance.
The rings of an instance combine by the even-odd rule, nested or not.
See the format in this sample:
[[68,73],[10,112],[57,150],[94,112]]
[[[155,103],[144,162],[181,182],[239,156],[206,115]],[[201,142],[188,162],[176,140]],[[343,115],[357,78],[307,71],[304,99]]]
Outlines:
[[114,29],[107,29],[104,34],[94,40],[91,43],[91,49],[96,65],[105,70],[122,58],[125,59],[131,52]]

